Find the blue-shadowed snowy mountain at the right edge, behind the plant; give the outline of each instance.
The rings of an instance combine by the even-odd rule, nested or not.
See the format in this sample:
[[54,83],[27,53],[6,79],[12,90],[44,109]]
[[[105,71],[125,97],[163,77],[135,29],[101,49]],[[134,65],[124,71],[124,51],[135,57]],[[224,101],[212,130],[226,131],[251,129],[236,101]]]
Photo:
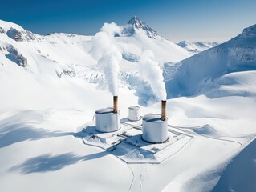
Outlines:
[[[167,85],[173,96],[255,94],[254,87],[250,86],[254,82],[254,70],[256,26],[250,26],[230,41],[180,62]],[[231,88],[233,85],[237,88]]]

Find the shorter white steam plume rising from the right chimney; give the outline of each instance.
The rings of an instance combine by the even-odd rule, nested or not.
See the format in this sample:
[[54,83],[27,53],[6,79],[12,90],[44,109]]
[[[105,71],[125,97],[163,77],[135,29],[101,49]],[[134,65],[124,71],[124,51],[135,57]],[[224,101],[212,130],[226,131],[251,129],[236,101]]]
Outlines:
[[165,82],[163,70],[154,61],[154,54],[151,50],[145,50],[139,61],[140,78],[147,82],[156,98],[166,100]]

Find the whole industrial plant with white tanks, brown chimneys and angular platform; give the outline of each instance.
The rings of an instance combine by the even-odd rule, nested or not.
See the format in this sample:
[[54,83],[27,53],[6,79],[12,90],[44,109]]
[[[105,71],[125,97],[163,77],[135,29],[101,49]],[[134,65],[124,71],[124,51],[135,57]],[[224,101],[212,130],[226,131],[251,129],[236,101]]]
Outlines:
[[140,116],[140,107],[130,106],[128,117],[120,118],[118,97],[113,96],[113,106],[96,110],[95,120],[76,137],[127,163],[161,163],[193,138],[169,128],[166,101],[161,101],[161,114]]

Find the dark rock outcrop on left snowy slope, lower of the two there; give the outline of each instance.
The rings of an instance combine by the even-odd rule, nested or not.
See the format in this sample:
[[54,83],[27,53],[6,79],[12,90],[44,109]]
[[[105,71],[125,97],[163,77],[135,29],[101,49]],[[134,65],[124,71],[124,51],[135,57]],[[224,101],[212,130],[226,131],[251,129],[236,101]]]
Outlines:
[[6,54],[6,58],[9,58],[11,61],[17,63],[18,66],[27,66],[27,59],[22,54],[18,54],[18,50],[16,50],[14,46],[8,46],[7,51],[9,54]]

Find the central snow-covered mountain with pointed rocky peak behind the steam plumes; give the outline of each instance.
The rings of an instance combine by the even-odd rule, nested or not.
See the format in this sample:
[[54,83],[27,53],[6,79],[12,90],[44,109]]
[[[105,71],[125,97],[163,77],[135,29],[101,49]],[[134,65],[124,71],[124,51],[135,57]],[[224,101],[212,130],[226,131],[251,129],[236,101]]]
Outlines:
[[[155,30],[136,16],[128,21],[128,25],[121,28],[122,33],[117,35],[119,36],[117,41],[120,42],[125,55],[124,59],[132,56],[137,60],[141,52],[148,49],[153,51],[159,62],[178,62],[189,57],[188,51],[157,35]],[[128,61],[134,61],[134,59],[128,59]]]

